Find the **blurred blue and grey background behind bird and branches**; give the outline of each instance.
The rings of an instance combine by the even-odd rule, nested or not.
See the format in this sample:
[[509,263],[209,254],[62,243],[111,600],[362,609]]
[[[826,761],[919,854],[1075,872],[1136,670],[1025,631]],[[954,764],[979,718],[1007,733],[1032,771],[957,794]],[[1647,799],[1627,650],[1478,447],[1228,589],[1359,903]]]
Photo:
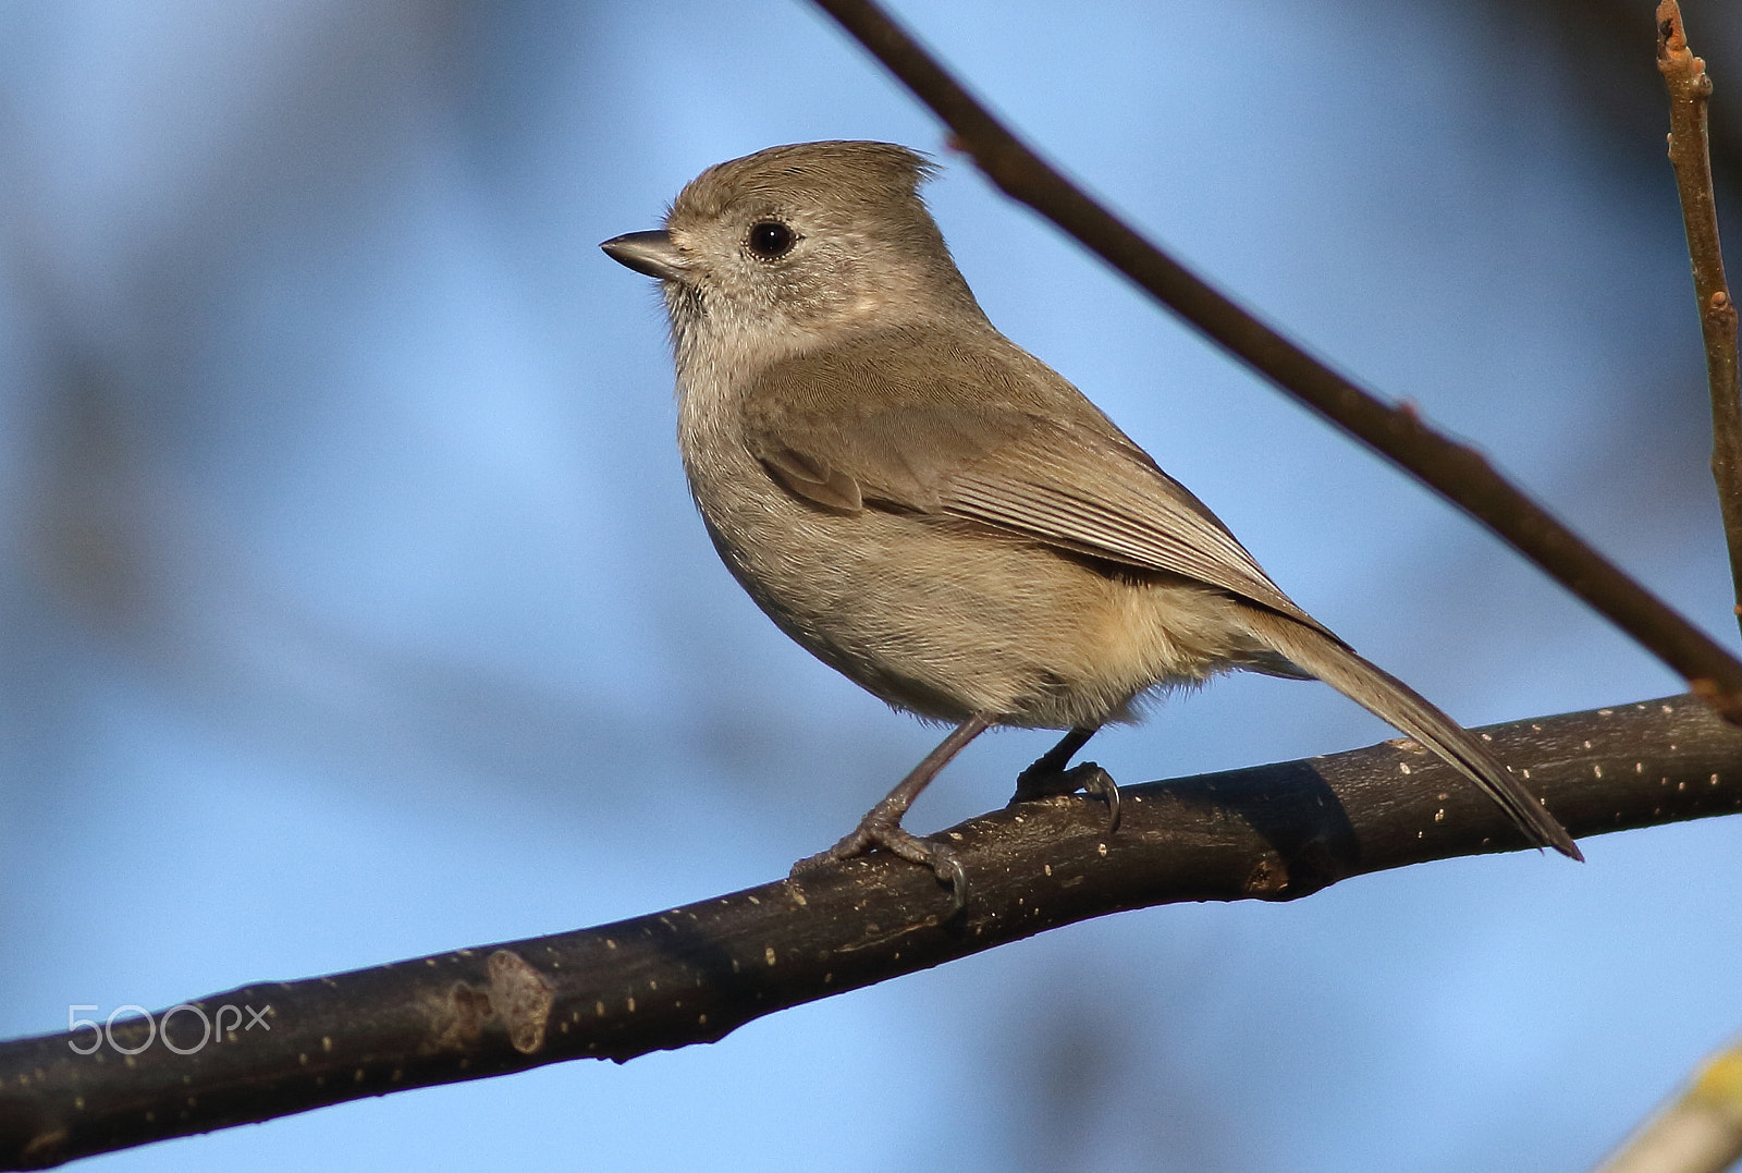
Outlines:
[[[895,9],[1735,641],[1648,0]],[[1735,209],[1742,23],[1688,19]],[[930,748],[716,563],[653,282],[598,251],[817,138],[937,153],[991,319],[1455,716],[1679,690],[998,197],[805,3],[9,0],[0,1035],[765,882]],[[1141,781],[1387,736],[1242,678],[1094,756]],[[911,824],[1000,805],[1047,744],[982,739]],[[91,1168],[1580,1170],[1742,1025],[1742,821],[1583,847],[1127,913],[718,1046]]]

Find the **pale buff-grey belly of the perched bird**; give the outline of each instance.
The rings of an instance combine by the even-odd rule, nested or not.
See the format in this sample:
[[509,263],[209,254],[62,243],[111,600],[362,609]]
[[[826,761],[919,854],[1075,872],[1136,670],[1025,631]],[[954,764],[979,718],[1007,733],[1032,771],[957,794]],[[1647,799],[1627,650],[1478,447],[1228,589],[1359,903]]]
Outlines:
[[697,492],[726,566],[801,647],[920,716],[1094,727],[1256,650],[1225,593],[937,518]]

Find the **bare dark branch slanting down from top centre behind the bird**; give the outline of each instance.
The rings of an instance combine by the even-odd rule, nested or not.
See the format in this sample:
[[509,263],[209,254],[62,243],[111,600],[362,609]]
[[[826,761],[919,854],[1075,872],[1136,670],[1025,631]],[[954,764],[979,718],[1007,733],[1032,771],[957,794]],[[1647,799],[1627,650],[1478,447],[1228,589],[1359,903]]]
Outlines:
[[1507,540],[1742,723],[1742,661],[1505,481],[1486,457],[1333,371],[1085,195],[1000,124],[873,0],[815,0],[955,132],[955,145],[1028,204],[1254,371]]

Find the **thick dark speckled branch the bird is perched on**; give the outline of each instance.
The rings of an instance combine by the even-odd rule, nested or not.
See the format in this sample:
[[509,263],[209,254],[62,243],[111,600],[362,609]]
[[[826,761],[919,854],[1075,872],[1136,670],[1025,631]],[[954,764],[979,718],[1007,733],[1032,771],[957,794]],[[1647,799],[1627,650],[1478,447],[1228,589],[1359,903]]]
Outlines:
[[[1742,809],[1742,730],[1691,697],[1488,734],[1575,835]],[[5,1042],[0,1166],[712,1042],[787,1006],[1110,912],[1294,899],[1352,875],[1524,845],[1495,803],[1415,742],[1129,786],[1124,807],[1115,837],[1106,809],[1082,798],[944,831],[970,882],[955,917],[928,870],[871,856],[599,929],[244,987],[152,1023]]]

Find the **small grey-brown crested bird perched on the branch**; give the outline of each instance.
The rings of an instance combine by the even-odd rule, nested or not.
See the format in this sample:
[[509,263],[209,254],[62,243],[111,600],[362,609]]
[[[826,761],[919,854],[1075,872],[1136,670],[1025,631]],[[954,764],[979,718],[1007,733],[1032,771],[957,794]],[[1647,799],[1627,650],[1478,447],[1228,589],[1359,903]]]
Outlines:
[[890,143],[775,146],[704,171],[664,230],[601,246],[664,289],[683,467],[726,566],[826,664],[956,725],[815,861],[883,847],[960,899],[955,856],[901,817],[962,746],[1070,730],[1019,797],[1087,783],[1117,802],[1094,767],[1064,769],[1077,749],[1144,694],[1235,668],[1324,680],[1580,858],[1481,741],[1296,607],[986,321],[918,195],[930,173]]

